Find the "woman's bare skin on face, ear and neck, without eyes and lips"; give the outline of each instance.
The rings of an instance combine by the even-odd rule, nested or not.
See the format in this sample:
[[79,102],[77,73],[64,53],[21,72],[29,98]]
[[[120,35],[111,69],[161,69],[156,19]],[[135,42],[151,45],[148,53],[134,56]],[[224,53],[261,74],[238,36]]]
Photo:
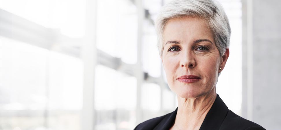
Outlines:
[[[168,85],[178,97],[175,123],[180,129],[198,130],[215,101],[219,68],[223,70],[229,50],[224,58],[220,56],[214,34],[201,18],[172,18],[163,36],[166,44],[161,59]],[[171,47],[176,49],[169,51]],[[178,80],[183,75],[196,75],[200,80],[183,83]],[[175,128],[174,125],[171,130]]]

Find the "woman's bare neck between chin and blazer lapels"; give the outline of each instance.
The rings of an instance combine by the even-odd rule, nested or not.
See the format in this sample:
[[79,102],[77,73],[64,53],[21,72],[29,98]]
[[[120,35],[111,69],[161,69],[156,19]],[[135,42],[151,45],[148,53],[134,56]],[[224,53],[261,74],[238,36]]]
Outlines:
[[178,112],[175,124],[179,129],[197,129],[201,127],[207,113],[217,97],[216,88],[197,98],[181,98],[178,96]]

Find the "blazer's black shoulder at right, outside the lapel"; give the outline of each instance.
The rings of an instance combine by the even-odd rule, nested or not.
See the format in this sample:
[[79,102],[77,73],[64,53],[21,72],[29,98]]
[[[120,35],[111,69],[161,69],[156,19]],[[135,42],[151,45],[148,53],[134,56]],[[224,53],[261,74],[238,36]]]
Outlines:
[[228,113],[221,124],[220,130],[265,130],[260,125],[249,121],[241,116],[238,116],[231,110],[228,110]]

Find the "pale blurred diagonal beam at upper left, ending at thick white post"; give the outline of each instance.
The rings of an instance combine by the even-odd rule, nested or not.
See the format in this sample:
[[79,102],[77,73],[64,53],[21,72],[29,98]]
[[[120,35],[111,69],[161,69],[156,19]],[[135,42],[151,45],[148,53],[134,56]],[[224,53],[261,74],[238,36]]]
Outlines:
[[82,38],[70,38],[59,29],[50,29],[0,9],[0,35],[44,49],[80,57]]

